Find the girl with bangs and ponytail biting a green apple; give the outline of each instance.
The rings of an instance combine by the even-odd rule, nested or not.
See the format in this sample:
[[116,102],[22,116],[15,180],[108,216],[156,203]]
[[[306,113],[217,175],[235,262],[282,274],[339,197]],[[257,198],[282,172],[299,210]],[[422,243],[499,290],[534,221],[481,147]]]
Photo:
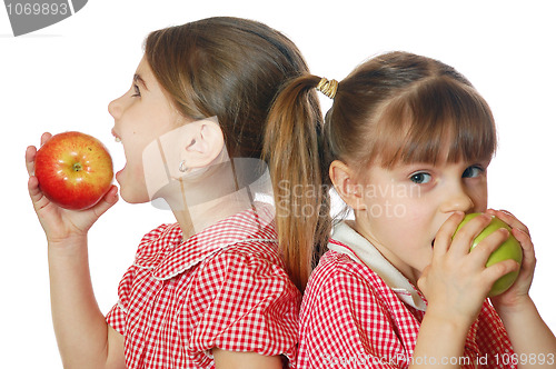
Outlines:
[[[324,124],[306,111],[315,89],[334,99]],[[535,253],[527,227],[487,210],[495,123],[465,77],[407,52],[370,59],[339,83],[302,76],[278,96],[267,144],[297,158],[270,162],[280,181],[275,196],[292,196],[285,183],[310,189],[277,207],[291,230],[280,235],[285,253],[301,256],[289,261],[309,270],[328,241],[302,299],[298,368],[555,365],[556,339],[528,295]],[[355,215],[331,237],[328,184]],[[299,205],[326,210],[300,213]],[[470,212],[485,215],[454,236]],[[485,267],[506,229],[469,252],[493,215],[512,227],[524,257],[513,287],[487,299],[498,278],[519,268],[514,260]]]

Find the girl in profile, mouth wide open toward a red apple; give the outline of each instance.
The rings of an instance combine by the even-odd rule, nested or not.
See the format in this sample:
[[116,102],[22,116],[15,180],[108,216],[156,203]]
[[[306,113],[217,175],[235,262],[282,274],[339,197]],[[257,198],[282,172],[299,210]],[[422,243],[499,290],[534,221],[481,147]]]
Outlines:
[[[211,18],[147,38],[130,90],[109,104],[126,156],[116,178],[123,200],[162,198],[177,222],[145,236],[107,317],[87,235],[117,188],[91,209],[59,208],[41,193],[28,148],[66,368],[281,368],[295,359],[300,293],[279,258],[272,209],[256,206],[262,174],[248,178],[245,162],[261,162],[280,86],[307,71],[289,39],[255,21]],[[318,114],[316,92],[309,101]]]

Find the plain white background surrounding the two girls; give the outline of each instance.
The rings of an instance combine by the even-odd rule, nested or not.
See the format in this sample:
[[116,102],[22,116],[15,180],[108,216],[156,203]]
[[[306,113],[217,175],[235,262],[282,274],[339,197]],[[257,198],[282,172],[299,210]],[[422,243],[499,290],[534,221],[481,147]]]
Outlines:
[[[61,367],[44,235],[27,193],[26,147],[38,144],[46,130],[80,130],[105,141],[121,169],[107,106],[129,88],[143,38],[209,16],[251,18],[282,31],[318,76],[340,80],[364,59],[396,49],[463,72],[490,103],[499,129],[489,205],[512,210],[529,227],[538,259],[530,293],[556,329],[553,1],[91,0],[73,17],[19,38],[0,8],[0,368]],[[141,236],[171,219],[150,205],[120,200],[91,229],[91,273],[102,311],[117,300]]]

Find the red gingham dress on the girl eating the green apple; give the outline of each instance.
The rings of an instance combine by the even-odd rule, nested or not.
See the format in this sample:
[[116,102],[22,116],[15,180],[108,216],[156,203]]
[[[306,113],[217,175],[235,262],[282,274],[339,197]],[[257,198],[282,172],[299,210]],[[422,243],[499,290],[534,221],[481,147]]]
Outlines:
[[[413,351],[426,307],[404,302],[400,295],[410,292],[390,288],[345,243],[332,239],[329,248],[335,250],[322,256],[304,295],[296,367],[407,368],[411,359],[419,363]],[[515,368],[513,353],[500,318],[485,301],[469,329],[466,358],[447,359],[459,360],[461,368]]]

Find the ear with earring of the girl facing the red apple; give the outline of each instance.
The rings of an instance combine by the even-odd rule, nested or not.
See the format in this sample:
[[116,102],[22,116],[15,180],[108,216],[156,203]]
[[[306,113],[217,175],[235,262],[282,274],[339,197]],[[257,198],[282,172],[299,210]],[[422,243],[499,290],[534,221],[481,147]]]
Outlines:
[[190,169],[209,166],[225,150],[224,133],[215,119],[188,123],[187,139],[181,144],[180,157]]

